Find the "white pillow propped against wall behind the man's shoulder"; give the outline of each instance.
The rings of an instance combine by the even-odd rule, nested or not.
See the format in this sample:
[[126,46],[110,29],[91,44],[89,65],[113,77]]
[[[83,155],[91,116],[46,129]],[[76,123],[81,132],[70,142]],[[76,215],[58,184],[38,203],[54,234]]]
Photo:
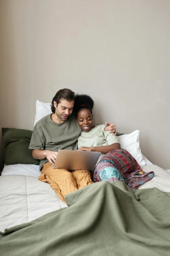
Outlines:
[[50,105],[51,103],[36,101],[36,114],[35,114],[34,126],[40,119],[52,113]]

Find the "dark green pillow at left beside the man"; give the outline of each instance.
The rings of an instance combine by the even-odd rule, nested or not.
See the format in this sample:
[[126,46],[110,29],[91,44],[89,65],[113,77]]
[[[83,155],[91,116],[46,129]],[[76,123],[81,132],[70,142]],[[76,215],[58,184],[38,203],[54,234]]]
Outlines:
[[2,128],[5,145],[5,165],[9,164],[36,164],[39,160],[32,156],[32,149],[29,149],[33,131]]

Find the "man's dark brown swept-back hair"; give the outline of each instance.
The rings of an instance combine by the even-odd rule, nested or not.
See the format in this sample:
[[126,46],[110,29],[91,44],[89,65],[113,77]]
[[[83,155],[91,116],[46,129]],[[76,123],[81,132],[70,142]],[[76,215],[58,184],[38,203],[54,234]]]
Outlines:
[[58,103],[60,103],[60,100],[65,100],[69,102],[75,101],[75,93],[72,90],[66,88],[59,90],[51,102],[52,113],[55,113],[54,101],[56,101],[58,105]]

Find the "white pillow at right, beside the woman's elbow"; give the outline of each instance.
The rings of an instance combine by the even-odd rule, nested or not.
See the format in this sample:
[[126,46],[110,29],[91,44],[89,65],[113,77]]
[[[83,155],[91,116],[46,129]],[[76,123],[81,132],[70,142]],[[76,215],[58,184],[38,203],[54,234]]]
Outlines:
[[146,165],[143,159],[139,142],[139,130],[133,133],[118,136],[121,149],[126,149],[138,162],[140,166]]

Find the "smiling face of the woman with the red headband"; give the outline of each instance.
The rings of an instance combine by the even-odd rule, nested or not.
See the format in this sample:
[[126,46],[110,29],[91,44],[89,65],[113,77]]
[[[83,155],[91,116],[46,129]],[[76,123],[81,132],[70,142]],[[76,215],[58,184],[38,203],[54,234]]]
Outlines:
[[77,121],[83,132],[89,132],[92,127],[92,114],[87,109],[80,110],[78,112]]

